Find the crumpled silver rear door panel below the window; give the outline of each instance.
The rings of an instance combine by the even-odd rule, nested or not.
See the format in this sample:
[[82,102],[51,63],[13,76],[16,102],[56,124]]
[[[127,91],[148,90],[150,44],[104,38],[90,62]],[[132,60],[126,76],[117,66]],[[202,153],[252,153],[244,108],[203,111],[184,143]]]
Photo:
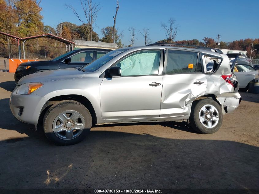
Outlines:
[[[200,85],[196,81],[204,82]],[[160,117],[188,119],[191,103],[201,96],[207,87],[204,74],[163,75]]]

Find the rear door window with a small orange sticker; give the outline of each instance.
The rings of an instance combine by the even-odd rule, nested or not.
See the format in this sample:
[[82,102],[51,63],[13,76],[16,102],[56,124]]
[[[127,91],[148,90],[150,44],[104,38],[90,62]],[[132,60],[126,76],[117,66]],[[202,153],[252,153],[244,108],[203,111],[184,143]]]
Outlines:
[[198,60],[197,52],[168,50],[166,74],[194,72],[202,72],[201,60]]

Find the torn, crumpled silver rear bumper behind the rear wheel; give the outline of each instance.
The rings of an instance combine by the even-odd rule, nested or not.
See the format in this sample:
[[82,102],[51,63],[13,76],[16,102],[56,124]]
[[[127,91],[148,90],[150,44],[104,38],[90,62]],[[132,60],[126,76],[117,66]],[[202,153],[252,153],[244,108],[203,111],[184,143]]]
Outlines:
[[241,102],[241,96],[238,92],[223,93],[216,98],[222,106],[223,115],[234,112]]

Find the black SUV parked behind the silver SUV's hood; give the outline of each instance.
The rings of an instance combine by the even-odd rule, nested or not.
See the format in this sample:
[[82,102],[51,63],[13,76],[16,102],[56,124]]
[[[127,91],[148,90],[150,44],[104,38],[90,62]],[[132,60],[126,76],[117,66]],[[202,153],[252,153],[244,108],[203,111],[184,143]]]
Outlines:
[[112,50],[101,48],[83,48],[70,51],[50,61],[32,61],[21,63],[15,71],[14,79],[17,84],[17,82],[25,75],[48,70],[82,67],[95,59],[100,58],[109,51]]

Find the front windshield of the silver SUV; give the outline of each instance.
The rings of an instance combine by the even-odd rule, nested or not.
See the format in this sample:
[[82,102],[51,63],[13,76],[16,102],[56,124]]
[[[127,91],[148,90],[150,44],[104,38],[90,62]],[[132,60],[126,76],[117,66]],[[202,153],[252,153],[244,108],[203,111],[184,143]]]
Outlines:
[[92,63],[89,63],[89,65],[83,67],[83,71],[85,72],[93,72],[102,67],[105,63],[109,62],[112,60],[114,57],[119,55],[120,53],[127,51],[127,49],[116,49],[114,51],[110,51],[100,57],[99,59],[96,59]]

